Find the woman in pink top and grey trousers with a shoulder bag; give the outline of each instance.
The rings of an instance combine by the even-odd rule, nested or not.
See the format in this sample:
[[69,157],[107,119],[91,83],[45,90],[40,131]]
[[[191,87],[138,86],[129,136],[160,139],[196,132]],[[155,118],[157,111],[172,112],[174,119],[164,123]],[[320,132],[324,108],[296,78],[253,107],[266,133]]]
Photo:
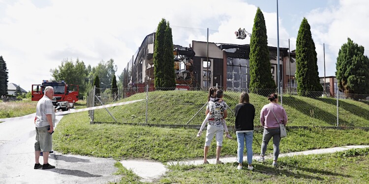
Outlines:
[[269,104],[264,105],[260,111],[260,123],[264,127],[263,143],[258,161],[264,161],[264,155],[270,139],[273,137],[273,166],[277,166],[279,155],[280,130],[279,124],[287,124],[287,115],[284,108],[278,104],[278,95],[271,94],[268,98]]

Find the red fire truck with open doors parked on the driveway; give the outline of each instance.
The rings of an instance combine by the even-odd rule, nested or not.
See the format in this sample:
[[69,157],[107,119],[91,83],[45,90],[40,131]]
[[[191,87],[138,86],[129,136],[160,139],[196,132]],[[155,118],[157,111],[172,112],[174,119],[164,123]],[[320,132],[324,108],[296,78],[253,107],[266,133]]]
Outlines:
[[43,80],[42,84],[32,84],[32,101],[40,100],[45,94],[46,86],[54,88],[53,104],[62,111],[74,107],[78,101],[78,85],[66,84],[64,80]]

